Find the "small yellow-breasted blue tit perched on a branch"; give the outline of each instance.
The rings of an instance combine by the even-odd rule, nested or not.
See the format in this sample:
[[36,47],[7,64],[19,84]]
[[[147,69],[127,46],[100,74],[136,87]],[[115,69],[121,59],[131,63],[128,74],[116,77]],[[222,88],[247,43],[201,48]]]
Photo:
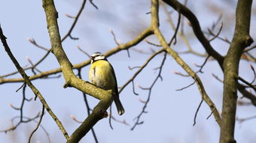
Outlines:
[[112,90],[114,103],[117,106],[118,115],[123,115],[124,109],[119,100],[117,89],[117,79],[114,74],[114,69],[108,62],[105,55],[100,52],[95,52],[91,55],[89,79],[99,88],[104,90]]

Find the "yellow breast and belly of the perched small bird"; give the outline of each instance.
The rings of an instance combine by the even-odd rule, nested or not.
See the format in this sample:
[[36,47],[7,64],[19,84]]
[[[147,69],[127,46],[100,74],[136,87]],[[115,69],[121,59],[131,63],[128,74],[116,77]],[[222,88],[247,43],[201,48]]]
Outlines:
[[114,90],[117,86],[116,79],[114,79],[114,70],[108,61],[93,62],[90,66],[89,78],[93,85],[105,90]]

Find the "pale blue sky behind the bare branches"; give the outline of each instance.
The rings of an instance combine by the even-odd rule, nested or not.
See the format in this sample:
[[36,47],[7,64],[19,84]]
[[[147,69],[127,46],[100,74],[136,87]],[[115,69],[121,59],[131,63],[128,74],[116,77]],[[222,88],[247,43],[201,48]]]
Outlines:
[[[126,43],[129,40],[133,40],[137,34],[150,24],[150,15],[145,14],[150,11],[149,1],[110,0],[108,2],[94,2],[99,7],[99,10],[96,10],[95,7],[87,1],[85,9],[78,20],[78,24],[75,26],[74,31],[72,31],[72,36],[79,37],[79,40],[67,38],[67,40],[62,43],[72,64],[78,64],[89,59],[77,49],[77,46],[80,46],[89,54],[97,51],[104,53],[116,47],[110,29],[114,31],[118,42]],[[234,20],[232,16],[235,13],[236,4],[232,4],[232,1],[224,1],[223,5],[218,6],[222,1],[211,2],[206,3],[203,0],[197,0],[195,2],[188,1],[187,4],[198,16],[204,30],[207,30],[207,28],[212,25],[212,22],[218,19],[218,15],[223,13],[221,10],[225,10],[224,18],[222,19],[224,22],[224,32],[221,33],[221,36],[231,40],[233,33],[232,22]],[[66,13],[74,16],[78,12],[80,4],[81,1],[55,1],[56,9],[59,12],[58,22],[62,36],[69,30],[73,21],[73,19],[66,16]],[[215,5],[218,6],[218,9],[214,9],[216,8]],[[207,8],[203,9],[200,7],[212,8],[214,12],[210,12]],[[173,12],[171,9],[169,10],[171,13]],[[253,13],[255,13],[255,2],[253,10]],[[166,30],[169,24],[166,15],[163,13],[163,7],[160,8],[160,13],[160,20],[161,23],[163,23],[163,25],[160,25],[160,29],[166,37],[171,37],[173,31]],[[255,16],[252,17],[255,18]],[[176,23],[177,15],[175,14],[172,18],[175,19]],[[185,20],[185,23],[186,22]],[[27,57],[33,62],[36,62],[45,53],[44,50],[29,43],[28,38],[33,38],[39,45],[50,48],[50,40],[41,1],[0,0],[0,24],[5,36],[8,37],[8,44],[11,51],[23,67],[29,65],[29,62],[26,60]],[[252,20],[251,25],[254,24],[255,20]],[[185,26],[184,30],[191,46],[197,50],[197,52],[203,53],[203,47],[198,40],[195,39],[190,27]],[[255,37],[256,35],[252,31],[254,31],[254,26],[251,26],[251,35]],[[148,40],[157,43],[154,37],[148,37]],[[221,52],[222,55],[227,52],[227,43],[218,40],[212,42],[212,45],[218,52]],[[130,58],[128,58],[126,51],[122,51],[108,58],[108,61],[110,61],[114,67],[119,86],[123,85],[136,72],[136,69],[129,70],[128,66],[141,66],[150,56],[136,52],[136,49],[149,51],[148,48],[152,48],[155,51],[159,49],[142,42],[130,50]],[[178,43],[173,46],[173,48],[179,52],[186,49],[181,39],[178,39]],[[181,55],[181,58],[183,58],[193,70],[198,70],[198,67],[194,64],[202,64],[205,59],[191,54]],[[161,74],[163,81],[158,80],[157,84],[152,89],[151,100],[146,109],[148,113],[142,115],[141,118],[141,121],[144,121],[144,123],[137,126],[135,130],[130,130],[131,127],[133,127],[134,118],[139,115],[144,105],[140,100],[146,100],[148,97],[148,91],[144,91],[138,88],[138,86],[140,85],[147,88],[151,85],[158,74],[158,70],[154,69],[160,66],[162,60],[163,55],[157,55],[157,57],[149,63],[148,67],[135,79],[135,90],[139,94],[138,96],[133,94],[132,85],[128,85],[120,94],[120,100],[126,109],[124,115],[118,116],[115,107],[112,109],[115,118],[120,121],[125,120],[129,125],[127,126],[112,121],[114,130],[111,130],[108,124],[108,118],[102,119],[102,121],[99,121],[94,127],[99,142],[218,142],[220,130],[213,116],[206,120],[211,113],[206,103],[203,103],[201,106],[197,115],[197,124],[193,126],[194,114],[201,100],[200,93],[196,85],[183,91],[176,91],[194,81],[191,78],[174,74],[174,72],[184,73],[184,70],[182,70],[170,56],[167,56]],[[0,50],[0,63],[3,65],[3,68],[0,70],[0,75],[15,71],[15,67],[4,49]],[[253,78],[253,73],[249,70],[249,64],[252,63],[241,61],[239,70],[240,75],[248,80]],[[253,65],[255,67],[255,64]],[[38,66],[38,69],[47,71],[57,67],[59,67],[59,64],[56,58],[50,54],[47,59]],[[82,70],[84,80],[88,80],[88,70],[89,66],[84,67]],[[199,74],[199,76],[203,83],[205,83],[204,85],[209,97],[211,97],[218,110],[221,110],[222,84],[212,77],[212,73],[215,73],[219,78],[223,78],[221,69],[215,61],[209,61],[203,71],[204,73]],[[31,71],[27,71],[27,73],[29,75],[32,74]],[[60,73],[56,74],[56,76],[59,75]],[[20,77],[20,75],[12,76],[12,78],[14,77]],[[83,121],[84,118],[87,117],[87,109],[81,92],[74,88],[62,88],[62,85],[65,83],[62,76],[55,79],[37,79],[32,81],[32,83],[38,88],[50,108],[59,120],[62,121],[69,135],[71,135],[79,126],[78,123],[72,120],[71,115],[74,115],[78,121]],[[12,109],[9,104],[11,103],[17,107],[20,106],[22,91],[15,91],[17,91],[21,85],[22,83],[0,85],[0,130],[11,127],[11,118],[20,115],[20,112]],[[26,96],[28,98],[33,97],[32,91],[29,88],[26,88]],[[239,97],[241,96],[239,95]],[[93,99],[93,97],[88,97],[88,100],[92,108],[98,102],[98,100]],[[242,100],[248,101],[246,99]],[[237,115],[239,118],[247,118],[254,115],[255,111],[254,106],[238,106]],[[25,103],[24,116],[31,118],[37,115],[38,112],[41,112],[41,103],[39,100],[32,100]],[[14,123],[17,123],[17,120]],[[236,141],[243,143],[254,142],[256,135],[256,131],[254,130],[256,127],[255,123],[255,120],[245,121],[242,124],[236,123]],[[53,119],[50,118],[50,115],[47,113],[44,115],[41,125],[47,130],[51,142],[66,141]],[[32,132],[35,126],[36,123],[31,122],[29,124],[21,124],[14,131],[0,133],[0,142],[27,142],[29,133]],[[48,142],[47,135],[42,128],[39,128],[32,137],[32,142]],[[83,142],[94,142],[91,132],[81,140],[81,143]]]

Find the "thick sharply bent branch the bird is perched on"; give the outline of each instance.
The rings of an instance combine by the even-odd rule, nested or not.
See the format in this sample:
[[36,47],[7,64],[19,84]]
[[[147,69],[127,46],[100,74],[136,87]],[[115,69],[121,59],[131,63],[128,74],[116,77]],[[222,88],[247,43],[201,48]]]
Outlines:
[[91,127],[93,127],[94,124],[96,124],[97,121],[106,117],[105,115],[107,114],[105,111],[111,104],[111,91],[104,91],[101,88],[96,88],[94,85],[84,82],[84,80],[75,76],[72,71],[72,64],[62,49],[59,27],[57,23],[58,13],[54,6],[53,0],[43,0],[43,7],[46,14],[47,28],[52,46],[52,52],[59,62],[62,74],[66,80],[64,88],[74,87],[100,100],[97,106],[93,109],[93,113],[89,115],[78,130],[75,130],[75,133],[73,133],[71,138],[68,140],[69,142],[72,142],[73,140],[79,141],[87,134],[87,132],[91,129]]

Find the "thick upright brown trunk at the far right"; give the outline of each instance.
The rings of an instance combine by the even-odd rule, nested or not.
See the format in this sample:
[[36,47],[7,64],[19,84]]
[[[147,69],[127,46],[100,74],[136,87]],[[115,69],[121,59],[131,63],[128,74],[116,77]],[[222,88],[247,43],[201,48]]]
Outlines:
[[242,51],[253,40],[249,35],[251,20],[251,0],[239,0],[236,7],[236,28],[230,49],[224,59],[224,94],[222,106],[221,143],[233,143],[236,122],[236,100],[239,61]]

